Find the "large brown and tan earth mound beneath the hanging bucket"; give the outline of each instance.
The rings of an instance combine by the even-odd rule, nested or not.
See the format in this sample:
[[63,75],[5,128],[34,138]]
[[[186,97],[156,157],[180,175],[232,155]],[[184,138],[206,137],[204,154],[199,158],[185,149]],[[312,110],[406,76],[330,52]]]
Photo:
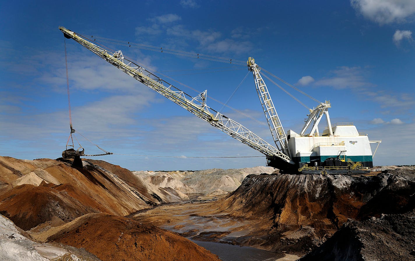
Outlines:
[[86,213],[125,216],[187,198],[146,184],[120,166],[93,160],[85,160],[83,165],[74,168],[70,160],[63,159],[0,157],[1,213],[27,230],[43,222],[68,222]]

